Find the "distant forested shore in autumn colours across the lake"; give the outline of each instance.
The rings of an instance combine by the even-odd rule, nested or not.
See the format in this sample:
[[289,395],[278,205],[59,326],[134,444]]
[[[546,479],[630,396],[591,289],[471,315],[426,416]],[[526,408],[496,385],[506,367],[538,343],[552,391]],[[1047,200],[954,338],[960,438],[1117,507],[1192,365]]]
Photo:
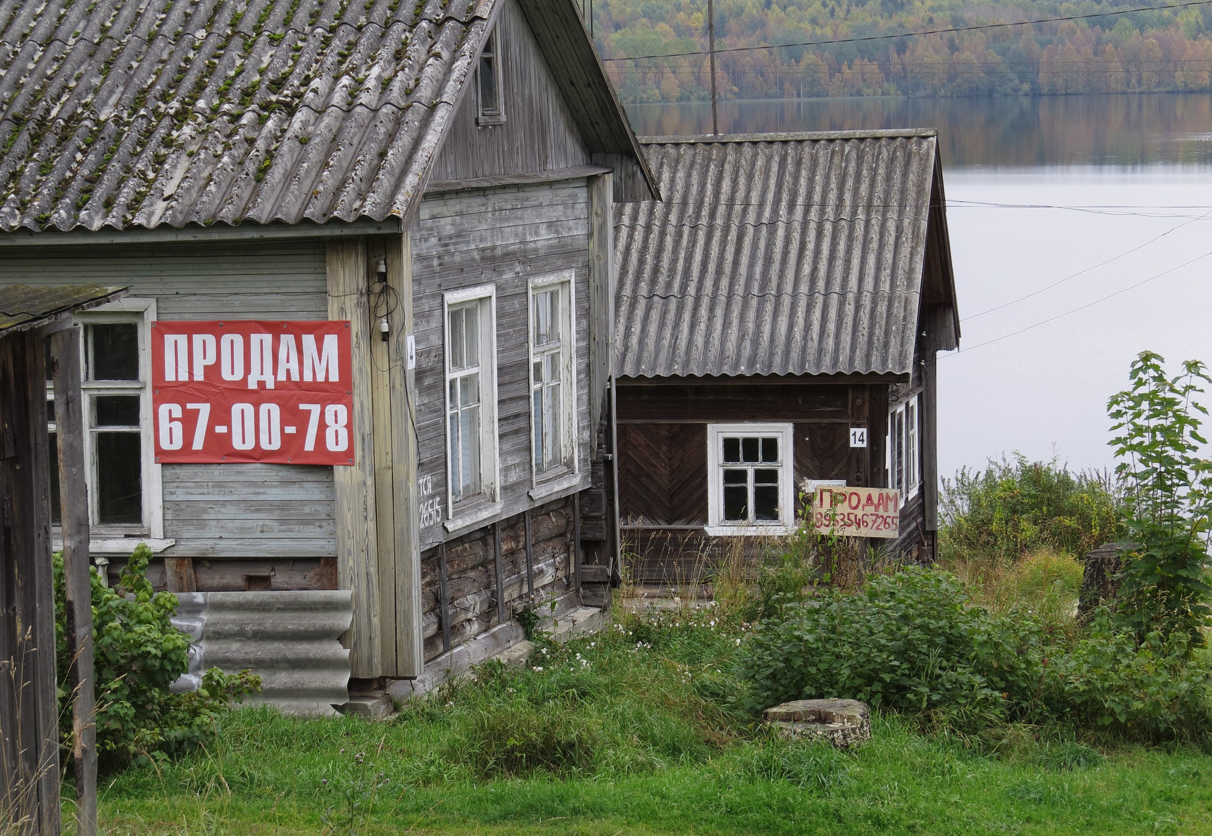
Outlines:
[[[1212,4],[1081,17],[1143,5],[715,0],[716,86],[724,99],[1212,91]],[[1081,19],[853,40],[1054,17]],[[594,0],[593,27],[623,101],[709,97],[707,0]],[[751,48],[810,41],[847,42]]]

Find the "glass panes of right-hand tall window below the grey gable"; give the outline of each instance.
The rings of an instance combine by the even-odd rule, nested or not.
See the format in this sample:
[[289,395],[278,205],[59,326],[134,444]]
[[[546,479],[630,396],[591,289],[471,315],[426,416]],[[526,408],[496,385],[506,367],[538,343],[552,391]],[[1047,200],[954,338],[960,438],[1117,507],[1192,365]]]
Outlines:
[[571,441],[572,388],[565,368],[571,363],[572,340],[567,330],[571,291],[568,282],[544,285],[531,293],[531,428],[534,473],[567,464]]

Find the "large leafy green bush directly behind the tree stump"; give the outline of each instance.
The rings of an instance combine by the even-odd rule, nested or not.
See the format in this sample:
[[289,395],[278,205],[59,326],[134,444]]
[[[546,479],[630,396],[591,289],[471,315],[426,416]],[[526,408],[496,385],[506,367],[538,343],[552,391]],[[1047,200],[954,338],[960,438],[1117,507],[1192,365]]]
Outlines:
[[909,568],[853,594],[822,590],[784,615],[762,622],[748,642],[743,676],[755,711],[841,697],[971,726],[1008,716],[1040,689],[1037,623],[968,606],[945,572]]

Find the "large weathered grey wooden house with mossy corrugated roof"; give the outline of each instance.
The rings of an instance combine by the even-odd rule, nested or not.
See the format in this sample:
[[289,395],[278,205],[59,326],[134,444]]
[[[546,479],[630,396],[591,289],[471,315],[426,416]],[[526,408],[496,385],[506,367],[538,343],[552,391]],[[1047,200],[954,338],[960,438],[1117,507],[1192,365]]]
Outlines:
[[[656,193],[571,0],[10,4],[0,138],[0,282],[131,288],[78,317],[95,560],[351,590],[361,678],[576,605],[613,205]],[[153,328],[190,320],[348,320],[353,463],[159,463]]]

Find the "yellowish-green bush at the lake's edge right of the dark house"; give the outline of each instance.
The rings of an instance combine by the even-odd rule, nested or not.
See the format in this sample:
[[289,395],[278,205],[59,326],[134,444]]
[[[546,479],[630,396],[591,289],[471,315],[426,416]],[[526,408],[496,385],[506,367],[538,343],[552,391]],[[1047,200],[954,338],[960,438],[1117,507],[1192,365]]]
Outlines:
[[944,560],[1013,560],[1041,546],[1080,556],[1122,533],[1122,502],[1104,479],[1021,453],[944,479],[939,514]]

